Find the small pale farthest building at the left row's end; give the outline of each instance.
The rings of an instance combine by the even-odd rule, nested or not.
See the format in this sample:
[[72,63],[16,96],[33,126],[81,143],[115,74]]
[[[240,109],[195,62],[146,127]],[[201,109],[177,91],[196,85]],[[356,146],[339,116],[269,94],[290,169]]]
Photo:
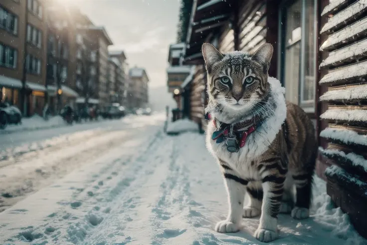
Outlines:
[[148,82],[149,78],[144,68],[133,67],[129,70],[132,82],[130,89],[132,108],[144,108],[148,106]]

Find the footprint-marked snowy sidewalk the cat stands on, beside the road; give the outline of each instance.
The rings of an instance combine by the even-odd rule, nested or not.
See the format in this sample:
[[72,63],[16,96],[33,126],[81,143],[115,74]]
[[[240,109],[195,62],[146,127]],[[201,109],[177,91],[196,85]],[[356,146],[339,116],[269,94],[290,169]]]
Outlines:
[[[260,244],[252,237],[258,218],[244,219],[236,234],[213,231],[226,216],[227,200],[203,136],[170,137],[161,128],[142,126],[0,213],[0,244]],[[314,196],[310,219],[280,215],[280,239],[271,244],[367,243],[333,208],[320,179]]]

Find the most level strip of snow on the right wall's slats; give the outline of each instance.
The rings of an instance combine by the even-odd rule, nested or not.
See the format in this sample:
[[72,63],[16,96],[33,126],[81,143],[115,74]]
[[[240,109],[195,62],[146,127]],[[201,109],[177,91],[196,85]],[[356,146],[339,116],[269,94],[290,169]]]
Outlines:
[[320,115],[321,119],[343,120],[343,121],[367,121],[367,110],[327,110]]

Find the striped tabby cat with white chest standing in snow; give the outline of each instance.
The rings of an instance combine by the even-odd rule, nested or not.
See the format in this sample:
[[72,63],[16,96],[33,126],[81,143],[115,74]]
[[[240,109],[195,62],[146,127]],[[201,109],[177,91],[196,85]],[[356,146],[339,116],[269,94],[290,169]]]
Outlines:
[[242,217],[261,215],[254,236],[271,242],[278,237],[278,213],[309,217],[317,150],[313,124],[268,76],[271,44],[254,54],[222,54],[204,43],[202,54],[209,96],[206,144],[220,166],[229,204],[227,219],[215,230],[237,232]]

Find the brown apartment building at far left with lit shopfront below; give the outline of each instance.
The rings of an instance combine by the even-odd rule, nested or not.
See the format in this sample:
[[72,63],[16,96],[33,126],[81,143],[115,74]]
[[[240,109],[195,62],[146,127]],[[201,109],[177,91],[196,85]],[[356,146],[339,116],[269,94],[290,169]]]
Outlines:
[[41,113],[44,105],[45,32],[43,1],[0,2],[1,100],[18,106],[24,115]]

